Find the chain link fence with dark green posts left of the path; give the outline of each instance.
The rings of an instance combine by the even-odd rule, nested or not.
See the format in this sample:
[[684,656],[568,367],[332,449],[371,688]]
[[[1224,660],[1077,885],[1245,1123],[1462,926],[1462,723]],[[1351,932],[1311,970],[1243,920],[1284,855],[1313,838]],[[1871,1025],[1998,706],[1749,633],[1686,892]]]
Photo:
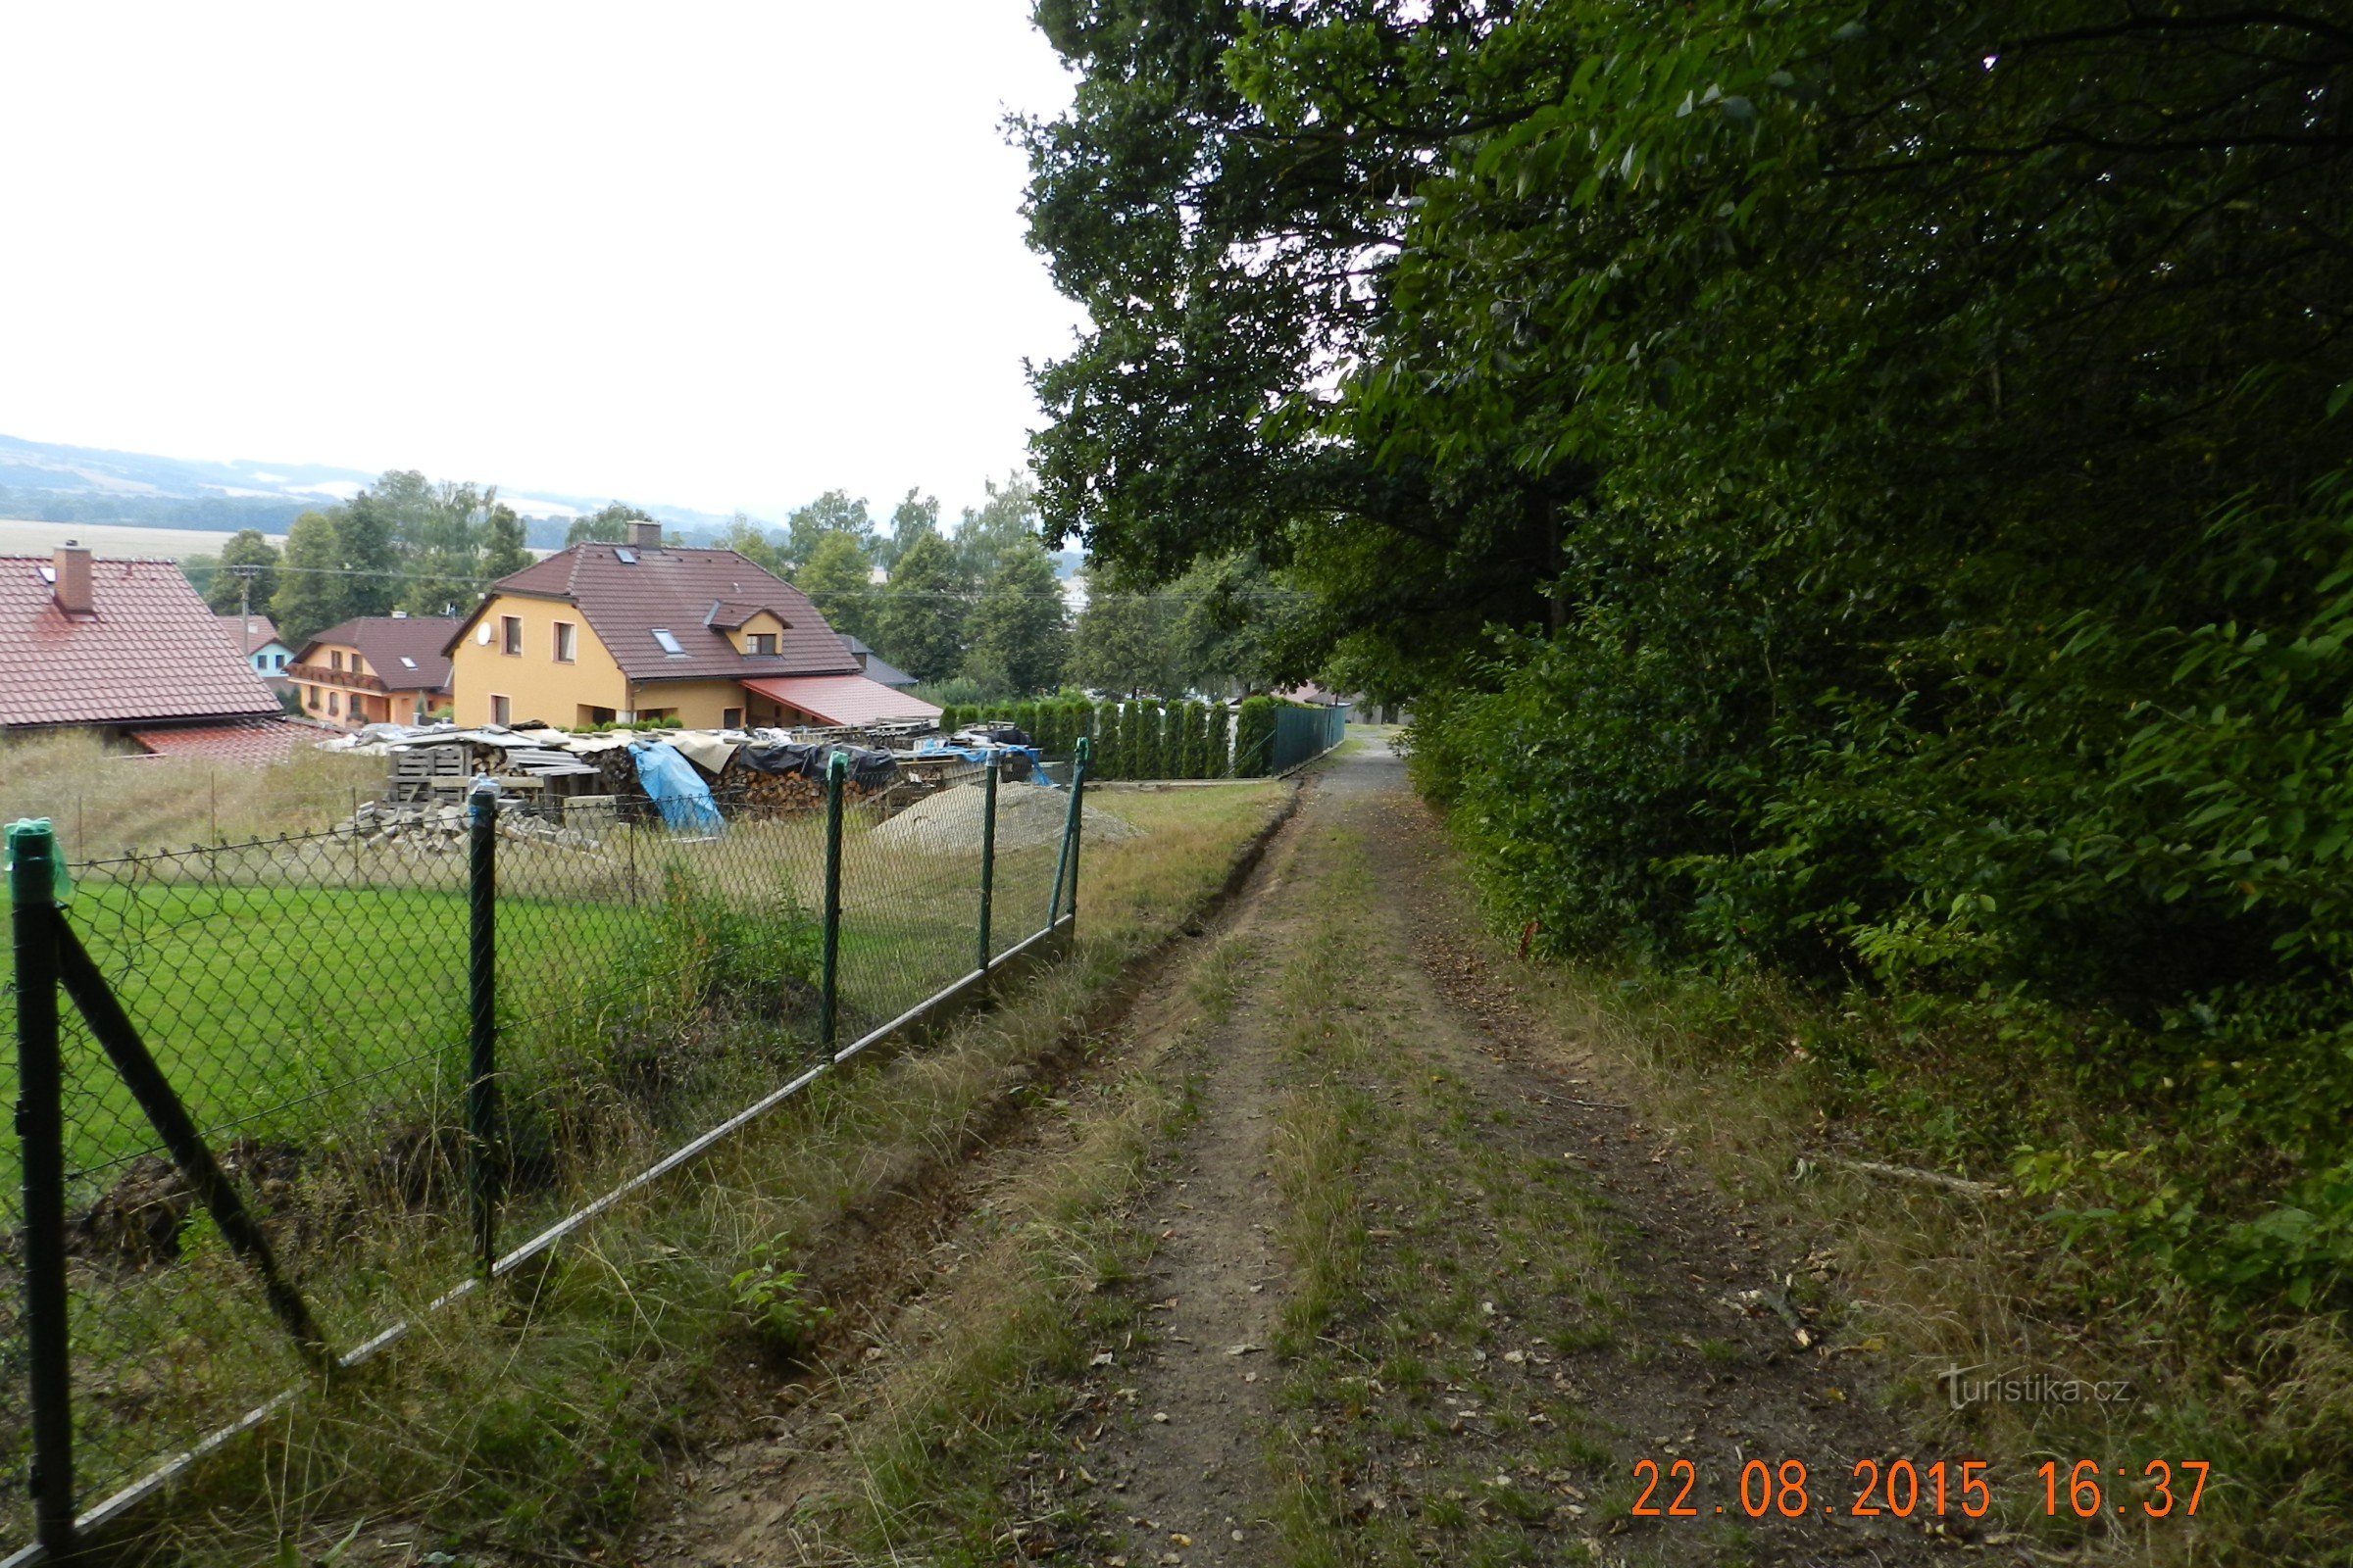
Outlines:
[[[0,1540],[365,1359],[1075,919],[1087,757],[894,811],[647,802],[64,865],[9,830]],[[953,797],[953,802],[951,802]],[[38,1554],[35,1549],[35,1554]]]

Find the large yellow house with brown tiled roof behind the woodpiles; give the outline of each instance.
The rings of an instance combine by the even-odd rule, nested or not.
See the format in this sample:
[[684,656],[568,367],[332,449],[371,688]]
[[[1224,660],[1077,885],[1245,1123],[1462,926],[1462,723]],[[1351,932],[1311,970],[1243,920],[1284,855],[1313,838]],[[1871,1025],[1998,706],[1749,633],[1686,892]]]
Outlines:
[[459,724],[936,719],[866,679],[809,597],[734,550],[584,543],[504,576],[445,644]]

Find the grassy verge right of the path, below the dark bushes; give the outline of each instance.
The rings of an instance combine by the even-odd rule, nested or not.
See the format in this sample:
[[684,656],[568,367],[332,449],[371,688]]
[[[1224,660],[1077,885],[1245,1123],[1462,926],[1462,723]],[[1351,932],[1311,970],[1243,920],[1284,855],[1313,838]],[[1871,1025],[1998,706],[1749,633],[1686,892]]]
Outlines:
[[[1489,961],[1508,964],[1518,936],[1494,931]],[[1807,994],[1755,971],[1513,973],[1544,1032],[1591,1048],[1732,1199],[1809,1237],[1791,1248],[1807,1255],[1788,1276],[1793,1300],[1819,1305],[1835,1349],[1878,1371],[1920,1453],[1993,1460],[1988,1528],[2002,1544],[2047,1561],[2353,1561],[2344,1316],[2226,1309],[2153,1258],[2073,1237],[2057,1213],[2066,1199],[2021,1190],[2005,1143],[2019,1128],[2087,1161],[2153,1135],[2115,1095],[2031,1070],[2047,1020]],[[1955,1380],[1962,1394],[2035,1380],[2075,1392],[1955,1408]],[[2085,1460],[2120,1490],[2078,1519],[2066,1479]],[[2184,1474],[2184,1460],[2212,1465],[2195,1521],[2146,1516],[2146,1467]],[[2045,1462],[2059,1467],[2054,1514]]]

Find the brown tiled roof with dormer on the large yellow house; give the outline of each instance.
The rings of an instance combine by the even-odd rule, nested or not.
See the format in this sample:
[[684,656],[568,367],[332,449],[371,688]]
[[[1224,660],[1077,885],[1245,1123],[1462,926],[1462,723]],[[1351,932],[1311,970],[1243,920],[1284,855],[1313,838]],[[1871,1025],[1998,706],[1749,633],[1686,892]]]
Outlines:
[[[621,559],[624,552],[635,555],[635,564]],[[635,682],[856,675],[859,670],[859,661],[816,614],[809,595],[734,550],[572,545],[499,578],[489,592],[534,595],[579,607],[588,630],[612,649],[621,672]],[[784,621],[776,654],[772,658],[739,654],[722,630],[706,625],[713,607],[774,611]],[[480,614],[482,607],[461,621],[456,637],[442,646],[454,649]],[[654,639],[656,628],[678,639],[678,654],[664,651]]]

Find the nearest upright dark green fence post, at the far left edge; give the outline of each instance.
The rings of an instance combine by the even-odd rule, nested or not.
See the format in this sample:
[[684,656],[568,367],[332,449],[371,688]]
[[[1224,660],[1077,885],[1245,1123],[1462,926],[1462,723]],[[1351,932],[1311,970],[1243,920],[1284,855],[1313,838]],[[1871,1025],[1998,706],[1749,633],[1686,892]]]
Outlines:
[[24,1166],[24,1328],[33,1406],[33,1537],[73,1554],[73,1345],[66,1338],[66,1072],[56,1046],[56,835],[7,830],[16,938],[16,1143]]

